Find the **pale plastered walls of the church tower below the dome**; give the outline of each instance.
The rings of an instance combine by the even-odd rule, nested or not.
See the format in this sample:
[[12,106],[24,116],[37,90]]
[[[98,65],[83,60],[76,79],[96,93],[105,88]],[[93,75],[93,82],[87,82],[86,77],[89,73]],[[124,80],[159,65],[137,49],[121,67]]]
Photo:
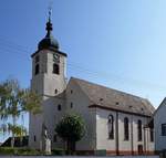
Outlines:
[[[65,71],[66,57],[60,54],[60,74],[53,74],[53,51],[42,50],[37,55],[40,56],[40,73],[34,74],[35,71],[35,56],[32,59],[32,80],[31,88],[41,95],[42,113],[39,115],[30,114],[29,124],[29,146],[31,148],[40,149],[42,124],[48,128],[49,138],[52,143],[52,148],[62,147],[62,141],[53,141],[55,135],[54,128],[58,122],[64,114],[64,95],[62,94],[66,87]],[[55,89],[58,93],[55,94]],[[61,105],[61,110],[58,110],[58,105]],[[37,141],[34,141],[34,136]]]

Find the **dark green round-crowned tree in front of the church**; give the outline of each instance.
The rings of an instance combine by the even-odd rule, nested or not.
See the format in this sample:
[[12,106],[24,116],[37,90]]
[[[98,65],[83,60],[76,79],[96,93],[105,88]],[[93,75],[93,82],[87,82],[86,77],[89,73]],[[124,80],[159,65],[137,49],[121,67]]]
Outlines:
[[66,141],[68,151],[75,150],[75,143],[85,134],[85,124],[81,116],[70,114],[56,125],[55,131],[59,137]]

